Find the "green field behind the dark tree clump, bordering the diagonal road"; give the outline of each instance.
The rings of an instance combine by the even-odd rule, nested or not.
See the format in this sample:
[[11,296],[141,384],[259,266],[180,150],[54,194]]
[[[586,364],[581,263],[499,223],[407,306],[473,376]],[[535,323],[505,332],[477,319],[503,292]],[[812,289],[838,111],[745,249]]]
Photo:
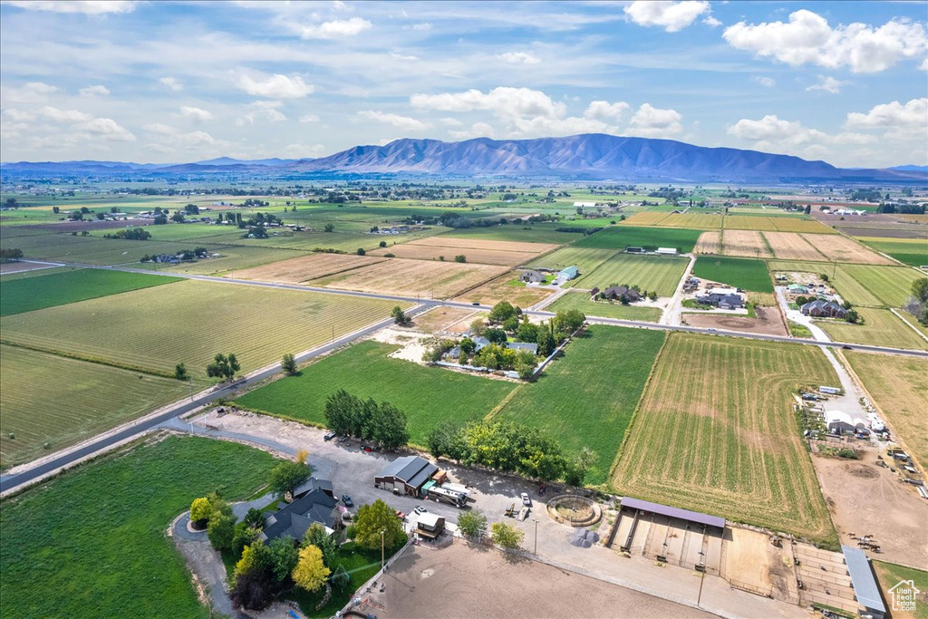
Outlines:
[[396,348],[380,342],[357,343],[303,368],[299,376],[246,393],[238,404],[324,425],[326,399],[344,389],[361,398],[390,402],[405,411],[411,442],[425,445],[429,432],[443,421],[483,419],[514,387],[504,380],[424,368],[387,356]]

